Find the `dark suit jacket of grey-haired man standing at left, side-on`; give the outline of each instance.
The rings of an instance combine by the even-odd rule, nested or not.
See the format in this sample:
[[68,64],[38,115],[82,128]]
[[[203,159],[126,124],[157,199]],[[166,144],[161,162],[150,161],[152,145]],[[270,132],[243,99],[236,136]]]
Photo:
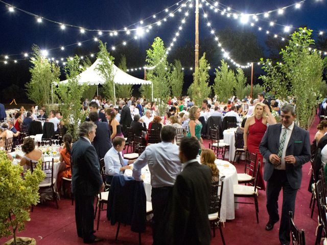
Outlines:
[[94,196],[102,186],[100,163],[96,149],[86,139],[79,138],[72,147],[72,191]]

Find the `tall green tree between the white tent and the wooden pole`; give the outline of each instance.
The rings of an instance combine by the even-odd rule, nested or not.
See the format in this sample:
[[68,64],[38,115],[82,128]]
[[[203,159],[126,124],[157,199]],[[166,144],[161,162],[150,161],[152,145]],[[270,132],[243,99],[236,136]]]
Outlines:
[[[170,65],[167,61],[164,41],[156,37],[151,47],[147,50],[146,58],[147,67],[152,68],[147,69],[147,80],[153,84],[153,97],[165,101],[170,95],[171,86],[169,83]],[[151,98],[151,86],[142,85],[140,92],[146,98]]]

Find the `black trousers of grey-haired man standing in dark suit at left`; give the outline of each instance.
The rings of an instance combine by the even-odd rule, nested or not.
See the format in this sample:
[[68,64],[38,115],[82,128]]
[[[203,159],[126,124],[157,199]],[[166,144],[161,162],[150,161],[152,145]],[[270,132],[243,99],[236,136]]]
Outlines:
[[95,239],[94,230],[94,196],[75,194],[75,220],[77,235],[90,242]]

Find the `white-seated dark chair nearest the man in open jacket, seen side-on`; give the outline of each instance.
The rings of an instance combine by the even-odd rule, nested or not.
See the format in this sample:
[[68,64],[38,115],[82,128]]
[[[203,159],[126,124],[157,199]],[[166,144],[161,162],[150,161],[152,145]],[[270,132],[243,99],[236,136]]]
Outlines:
[[256,223],[259,224],[259,206],[258,206],[258,188],[257,188],[257,182],[258,182],[258,174],[260,169],[260,161],[258,161],[258,164],[255,168],[255,177],[254,177],[254,185],[234,185],[234,197],[235,198],[253,198],[254,203],[252,202],[240,202],[235,201],[235,203],[243,203],[243,204],[254,204],[255,206],[255,216],[256,216]]

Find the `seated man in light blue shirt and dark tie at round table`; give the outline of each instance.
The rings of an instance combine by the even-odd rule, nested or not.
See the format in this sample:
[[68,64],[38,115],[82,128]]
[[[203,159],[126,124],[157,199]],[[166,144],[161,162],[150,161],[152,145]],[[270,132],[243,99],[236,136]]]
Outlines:
[[125,138],[116,137],[112,140],[112,148],[104,156],[106,166],[106,183],[110,184],[114,175],[124,174],[126,169],[130,169],[129,164],[135,160],[123,159],[122,152],[125,148]]

